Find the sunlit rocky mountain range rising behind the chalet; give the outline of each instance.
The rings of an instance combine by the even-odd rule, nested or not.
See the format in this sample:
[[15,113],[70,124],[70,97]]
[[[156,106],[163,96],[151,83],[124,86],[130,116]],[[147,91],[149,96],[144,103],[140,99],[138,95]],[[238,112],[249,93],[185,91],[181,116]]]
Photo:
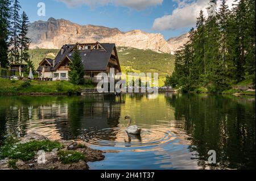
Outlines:
[[28,37],[31,49],[59,49],[63,44],[79,43],[115,43],[117,47],[150,49],[155,52],[174,54],[187,42],[187,33],[172,37],[167,41],[160,33],[147,33],[141,30],[122,32],[118,28],[85,25],[81,26],[65,19],[49,18],[47,21],[30,23]]

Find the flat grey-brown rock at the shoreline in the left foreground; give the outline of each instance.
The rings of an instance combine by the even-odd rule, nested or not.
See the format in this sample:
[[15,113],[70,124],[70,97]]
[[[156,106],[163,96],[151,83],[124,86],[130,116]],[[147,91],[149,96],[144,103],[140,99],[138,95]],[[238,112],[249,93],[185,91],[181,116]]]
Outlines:
[[[42,135],[31,133],[20,138],[18,144],[46,140],[49,139]],[[58,140],[57,142],[63,145],[63,149],[58,150],[56,148],[49,152],[43,151],[43,157],[45,158],[43,159],[43,163],[40,162],[42,157],[40,157],[39,154],[42,150],[38,150],[38,154],[36,154],[35,158],[30,161],[22,161],[18,159],[15,160],[14,165],[11,165],[10,162],[12,162],[13,159],[5,158],[0,160],[0,170],[88,170],[89,166],[86,162],[102,161],[105,158],[104,155],[102,155],[102,151],[90,149],[88,146],[84,145],[84,142],[82,141],[73,142]],[[62,162],[63,158],[61,159],[60,155],[58,154],[60,151],[61,153],[68,153],[68,155],[64,157],[65,160],[68,160],[67,164]],[[80,157],[77,159],[77,155],[80,155],[82,159],[80,159]]]

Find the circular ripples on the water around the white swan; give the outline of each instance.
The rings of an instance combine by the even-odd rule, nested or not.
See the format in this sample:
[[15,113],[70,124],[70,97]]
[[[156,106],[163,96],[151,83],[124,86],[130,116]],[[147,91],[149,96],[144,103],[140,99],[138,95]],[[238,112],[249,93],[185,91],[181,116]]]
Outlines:
[[89,144],[99,146],[115,146],[115,147],[143,147],[161,145],[171,142],[176,137],[170,129],[160,125],[144,125],[140,136],[127,134],[125,127],[97,129],[85,129],[82,139]]

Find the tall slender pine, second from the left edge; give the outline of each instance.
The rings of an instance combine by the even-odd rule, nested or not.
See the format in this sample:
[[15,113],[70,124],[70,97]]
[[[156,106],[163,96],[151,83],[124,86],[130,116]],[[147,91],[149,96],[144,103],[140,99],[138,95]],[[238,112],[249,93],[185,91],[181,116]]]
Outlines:
[[11,7],[11,37],[10,37],[10,60],[13,61],[14,64],[19,63],[19,33],[20,33],[20,5],[18,0],[14,0],[13,6]]

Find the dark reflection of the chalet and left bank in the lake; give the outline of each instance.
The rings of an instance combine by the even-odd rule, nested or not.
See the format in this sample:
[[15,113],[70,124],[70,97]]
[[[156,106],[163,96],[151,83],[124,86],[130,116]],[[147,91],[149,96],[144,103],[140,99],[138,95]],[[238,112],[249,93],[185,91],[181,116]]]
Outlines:
[[[17,106],[6,107],[6,129],[2,132],[26,134],[36,132],[53,140],[76,139],[86,130],[118,127],[121,97],[86,95],[80,97],[40,97],[26,105],[17,98]],[[22,102],[22,106],[18,106]],[[26,115],[26,116],[25,116]],[[4,134],[4,133],[2,133]],[[114,138],[114,132],[105,134]]]

